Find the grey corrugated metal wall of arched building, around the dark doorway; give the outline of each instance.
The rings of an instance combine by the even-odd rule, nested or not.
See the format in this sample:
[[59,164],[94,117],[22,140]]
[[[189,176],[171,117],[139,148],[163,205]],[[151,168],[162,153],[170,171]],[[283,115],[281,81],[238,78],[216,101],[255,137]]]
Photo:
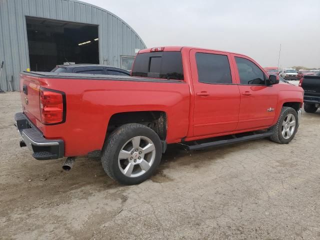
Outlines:
[[[2,90],[19,90],[19,72],[29,68],[25,16],[98,25],[99,61],[121,66],[121,55],[145,48],[138,34],[122,19],[78,0],[0,0],[0,76]],[[13,82],[10,82],[13,79]],[[8,87],[7,87],[8,83]]]

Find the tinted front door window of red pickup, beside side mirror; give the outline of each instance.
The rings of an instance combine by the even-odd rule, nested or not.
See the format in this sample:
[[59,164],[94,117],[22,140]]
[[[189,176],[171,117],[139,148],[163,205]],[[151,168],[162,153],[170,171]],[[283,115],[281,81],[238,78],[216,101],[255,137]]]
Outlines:
[[240,76],[240,84],[265,85],[263,71],[252,61],[234,57]]

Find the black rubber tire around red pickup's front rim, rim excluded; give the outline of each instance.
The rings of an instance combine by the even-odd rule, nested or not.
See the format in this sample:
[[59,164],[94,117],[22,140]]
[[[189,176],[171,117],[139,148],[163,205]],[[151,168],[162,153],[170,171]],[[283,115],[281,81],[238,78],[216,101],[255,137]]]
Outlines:
[[[292,135],[288,139],[285,139],[282,136],[282,132],[281,132],[282,131],[282,122],[286,118],[286,116],[290,113],[293,114],[295,117],[295,128],[294,128]],[[271,127],[271,131],[273,132],[273,134],[270,136],[270,140],[277,142],[277,143],[281,143],[281,144],[289,143],[293,139],[293,137],[298,129],[298,126],[299,126],[299,122],[298,122],[297,112],[292,107],[283,106],[276,124]]]

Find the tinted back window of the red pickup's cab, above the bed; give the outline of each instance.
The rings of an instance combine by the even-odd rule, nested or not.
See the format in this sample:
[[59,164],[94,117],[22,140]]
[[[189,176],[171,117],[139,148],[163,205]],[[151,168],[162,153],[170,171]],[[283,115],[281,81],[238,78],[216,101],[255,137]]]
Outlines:
[[183,80],[180,51],[160,51],[137,54],[132,76]]

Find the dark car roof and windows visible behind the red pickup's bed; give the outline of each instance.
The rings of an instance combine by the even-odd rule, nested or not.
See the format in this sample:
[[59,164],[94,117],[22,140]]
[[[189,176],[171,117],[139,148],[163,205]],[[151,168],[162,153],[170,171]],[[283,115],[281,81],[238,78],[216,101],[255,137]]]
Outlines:
[[65,73],[82,73],[82,74],[103,74],[103,75],[121,75],[129,76],[130,72],[108,65],[101,64],[68,64],[57,65],[51,72],[65,72]]

